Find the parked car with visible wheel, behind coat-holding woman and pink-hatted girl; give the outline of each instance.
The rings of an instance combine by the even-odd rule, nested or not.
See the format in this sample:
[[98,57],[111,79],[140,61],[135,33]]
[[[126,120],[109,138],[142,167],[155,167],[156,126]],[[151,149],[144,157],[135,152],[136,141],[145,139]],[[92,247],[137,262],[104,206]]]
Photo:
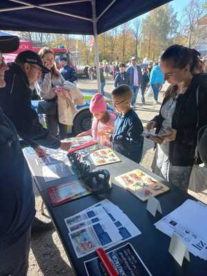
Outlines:
[[[92,122],[92,114],[89,110],[90,100],[95,95],[95,92],[83,92],[83,97],[85,99],[85,104],[83,106],[77,106],[78,112],[75,114],[73,118],[73,126],[72,129],[68,128],[68,132],[73,135],[78,135],[80,132],[89,130],[91,128]],[[107,97],[104,97],[108,110],[113,110],[112,101]],[[37,111],[39,100],[32,100],[32,108]],[[43,115],[39,114],[39,121],[43,126],[46,127],[45,121],[43,119]]]

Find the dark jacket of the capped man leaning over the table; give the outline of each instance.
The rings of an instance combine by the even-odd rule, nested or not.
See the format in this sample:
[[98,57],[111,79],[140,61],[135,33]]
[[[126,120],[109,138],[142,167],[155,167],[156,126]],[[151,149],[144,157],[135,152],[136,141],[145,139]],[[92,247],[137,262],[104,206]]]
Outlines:
[[19,136],[31,146],[37,144],[59,148],[60,141],[39,123],[37,112],[31,107],[32,90],[25,72],[17,63],[9,63],[5,73],[6,87],[0,89],[0,106],[12,121]]

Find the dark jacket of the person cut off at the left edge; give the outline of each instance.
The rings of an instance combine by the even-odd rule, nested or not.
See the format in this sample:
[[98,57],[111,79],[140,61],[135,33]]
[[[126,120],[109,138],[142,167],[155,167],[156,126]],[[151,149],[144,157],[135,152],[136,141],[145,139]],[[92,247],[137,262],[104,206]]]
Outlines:
[[1,108],[0,168],[0,248],[8,248],[30,227],[35,210],[30,170],[17,131]]

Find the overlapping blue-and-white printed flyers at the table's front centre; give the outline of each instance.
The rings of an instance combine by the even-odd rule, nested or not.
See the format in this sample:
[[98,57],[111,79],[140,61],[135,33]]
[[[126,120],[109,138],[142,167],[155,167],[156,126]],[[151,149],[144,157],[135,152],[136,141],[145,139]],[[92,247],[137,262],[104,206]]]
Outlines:
[[124,242],[141,232],[122,210],[108,199],[65,219],[78,258]]

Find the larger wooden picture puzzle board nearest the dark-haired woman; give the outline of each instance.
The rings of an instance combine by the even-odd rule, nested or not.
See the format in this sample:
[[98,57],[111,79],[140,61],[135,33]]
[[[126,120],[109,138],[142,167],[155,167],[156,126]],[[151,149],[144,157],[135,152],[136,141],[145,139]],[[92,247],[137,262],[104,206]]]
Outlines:
[[146,201],[150,196],[156,197],[170,190],[164,184],[138,169],[119,175],[115,177],[115,180],[141,201]]

